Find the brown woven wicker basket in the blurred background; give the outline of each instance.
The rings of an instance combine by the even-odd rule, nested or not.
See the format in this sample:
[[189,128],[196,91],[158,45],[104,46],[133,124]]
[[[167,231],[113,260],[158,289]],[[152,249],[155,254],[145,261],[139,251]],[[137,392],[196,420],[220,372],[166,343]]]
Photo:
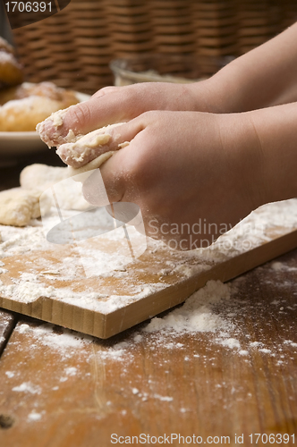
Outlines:
[[242,55],[296,20],[296,0],[72,0],[13,35],[27,80],[93,93],[113,84],[113,59]]

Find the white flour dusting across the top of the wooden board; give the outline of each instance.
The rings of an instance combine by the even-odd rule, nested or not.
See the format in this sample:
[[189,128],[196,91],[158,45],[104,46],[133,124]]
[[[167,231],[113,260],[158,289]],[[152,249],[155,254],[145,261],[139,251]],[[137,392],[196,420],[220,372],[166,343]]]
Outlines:
[[[116,239],[117,233],[112,232],[107,241],[114,251],[109,257],[109,270],[106,272],[105,251],[100,243],[88,245],[88,240],[83,241],[80,249],[77,246],[69,248],[67,244],[56,246],[45,239],[43,226],[38,220],[31,221],[30,226],[24,228],[1,225],[0,294],[23,303],[46,297],[109,314],[296,227],[297,199],[269,204],[251,213],[207,249],[177,252],[165,247],[162,242],[150,240],[145,253],[146,261],[140,257],[130,266],[119,264],[121,257],[116,248],[122,242]],[[123,228],[118,230],[123,233]],[[57,251],[59,256],[56,255]],[[84,253],[83,256],[81,253]],[[10,257],[17,258],[15,262],[18,268],[14,268],[12,273]],[[83,264],[92,266],[95,261],[96,269],[92,277],[97,283],[96,287],[91,287],[89,281],[86,281]],[[280,266],[276,265],[275,269],[277,272]],[[76,284],[76,289],[73,284]],[[227,286],[217,287],[221,288],[219,294],[226,298]],[[201,293],[203,295],[207,291]],[[209,314],[209,303],[190,315],[192,303],[202,299],[202,295],[197,292],[182,308],[182,314],[173,314],[162,322],[155,320],[148,330],[153,330],[154,325],[174,325],[179,330],[184,325],[223,329],[224,322],[220,316]],[[178,321],[174,321],[174,318],[178,318]]]

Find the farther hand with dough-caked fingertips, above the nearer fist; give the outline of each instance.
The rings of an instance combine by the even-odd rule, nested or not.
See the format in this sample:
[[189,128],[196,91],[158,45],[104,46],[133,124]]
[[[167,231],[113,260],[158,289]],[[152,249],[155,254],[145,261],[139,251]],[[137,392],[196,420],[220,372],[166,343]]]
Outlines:
[[53,146],[67,142],[72,130],[84,135],[107,124],[127,122],[149,110],[182,110],[214,112],[211,105],[210,80],[192,84],[148,82],[126,87],[98,90],[84,103],[72,105],[63,116],[63,125],[55,127],[51,118],[45,122],[44,133]]

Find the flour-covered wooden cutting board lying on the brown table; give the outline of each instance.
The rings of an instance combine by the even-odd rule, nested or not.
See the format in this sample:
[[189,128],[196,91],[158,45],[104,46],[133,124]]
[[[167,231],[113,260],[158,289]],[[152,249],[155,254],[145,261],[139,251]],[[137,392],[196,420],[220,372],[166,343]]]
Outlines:
[[[81,249],[102,256],[118,245],[87,240]],[[264,238],[244,252],[217,256],[219,245],[180,252],[153,244],[130,265],[87,277],[75,244],[45,244],[3,258],[0,307],[106,339],[182,303],[208,280],[226,282],[296,247],[297,223],[267,223]]]

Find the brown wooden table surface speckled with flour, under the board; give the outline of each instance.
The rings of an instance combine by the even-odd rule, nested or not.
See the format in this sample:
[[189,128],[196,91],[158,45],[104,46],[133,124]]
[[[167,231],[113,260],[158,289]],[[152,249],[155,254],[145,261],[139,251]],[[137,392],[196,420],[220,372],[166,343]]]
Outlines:
[[100,341],[0,310],[0,446],[294,445],[296,274],[294,250],[233,280],[228,333]]

